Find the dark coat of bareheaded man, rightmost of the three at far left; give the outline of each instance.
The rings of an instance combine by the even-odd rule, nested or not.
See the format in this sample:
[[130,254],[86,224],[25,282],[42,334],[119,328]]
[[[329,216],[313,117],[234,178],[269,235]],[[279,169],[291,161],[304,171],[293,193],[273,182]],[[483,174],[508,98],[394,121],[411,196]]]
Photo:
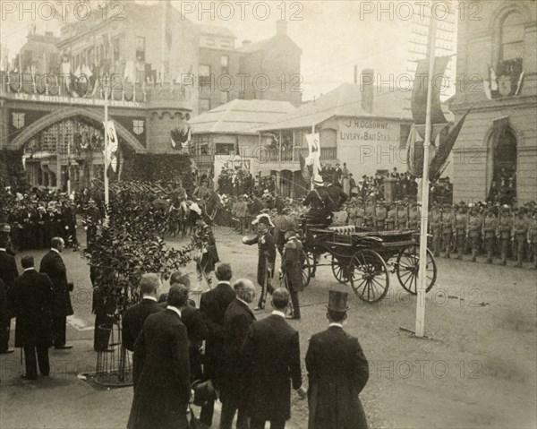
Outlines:
[[69,286],[67,285],[67,270],[59,253],[51,250],[41,260],[39,272],[47,274],[52,281],[54,290],[55,317],[70,316],[73,314]]

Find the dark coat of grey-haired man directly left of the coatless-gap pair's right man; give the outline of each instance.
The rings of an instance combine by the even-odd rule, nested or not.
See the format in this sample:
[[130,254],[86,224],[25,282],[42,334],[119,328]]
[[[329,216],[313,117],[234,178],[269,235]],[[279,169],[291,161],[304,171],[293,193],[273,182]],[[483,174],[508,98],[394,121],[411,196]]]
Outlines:
[[224,317],[224,367],[220,400],[235,408],[243,406],[244,364],[241,348],[255,316],[248,305],[235,299],[227,306]]

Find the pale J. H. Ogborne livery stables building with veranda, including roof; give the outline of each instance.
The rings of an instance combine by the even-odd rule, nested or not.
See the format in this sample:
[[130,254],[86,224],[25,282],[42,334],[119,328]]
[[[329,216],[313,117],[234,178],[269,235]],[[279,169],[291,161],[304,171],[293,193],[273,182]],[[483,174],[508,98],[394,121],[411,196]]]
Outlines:
[[406,171],[405,145],[413,122],[404,108],[406,97],[402,90],[344,83],[277,124],[260,127],[261,175],[277,176],[284,195],[307,191],[300,161],[308,156],[306,135],[313,130],[320,135],[321,165],[343,167],[345,162],[356,179],[394,167]]

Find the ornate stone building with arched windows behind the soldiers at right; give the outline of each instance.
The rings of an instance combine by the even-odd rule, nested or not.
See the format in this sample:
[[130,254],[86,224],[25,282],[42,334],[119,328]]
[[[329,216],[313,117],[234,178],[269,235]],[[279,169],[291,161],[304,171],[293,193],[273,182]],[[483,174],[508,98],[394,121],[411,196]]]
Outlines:
[[[480,2],[459,20],[454,148],[456,201],[537,200],[537,11],[534,2]],[[469,4],[465,4],[468,17]],[[463,12],[461,12],[463,13]],[[503,195],[503,196],[502,196]]]

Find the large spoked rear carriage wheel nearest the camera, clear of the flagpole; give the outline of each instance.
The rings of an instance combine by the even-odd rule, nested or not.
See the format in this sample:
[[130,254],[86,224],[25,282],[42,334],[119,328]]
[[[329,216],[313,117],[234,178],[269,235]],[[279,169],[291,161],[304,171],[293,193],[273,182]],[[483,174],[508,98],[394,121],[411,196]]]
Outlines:
[[362,301],[375,303],[388,293],[388,267],[379,253],[370,249],[354,253],[348,270],[351,287]]

